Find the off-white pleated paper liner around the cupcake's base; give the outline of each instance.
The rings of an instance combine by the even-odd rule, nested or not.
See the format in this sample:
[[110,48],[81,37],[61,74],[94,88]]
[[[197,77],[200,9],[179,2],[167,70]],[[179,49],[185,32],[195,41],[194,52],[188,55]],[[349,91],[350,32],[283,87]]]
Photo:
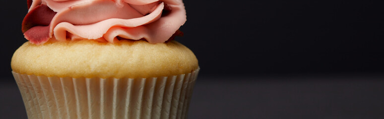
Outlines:
[[186,119],[198,71],[134,79],[12,73],[28,119]]

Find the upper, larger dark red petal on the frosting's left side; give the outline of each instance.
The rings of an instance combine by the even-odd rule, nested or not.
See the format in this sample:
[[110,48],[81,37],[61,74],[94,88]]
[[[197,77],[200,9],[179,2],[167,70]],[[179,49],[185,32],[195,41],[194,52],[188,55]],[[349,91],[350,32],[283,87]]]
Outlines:
[[55,14],[56,12],[47,5],[38,5],[25,15],[21,30],[24,33],[34,26],[48,26]]

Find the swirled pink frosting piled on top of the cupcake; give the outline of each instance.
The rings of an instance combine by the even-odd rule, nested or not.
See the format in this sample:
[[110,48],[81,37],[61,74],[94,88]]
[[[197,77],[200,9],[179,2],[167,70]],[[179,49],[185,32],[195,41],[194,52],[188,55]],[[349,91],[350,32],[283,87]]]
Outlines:
[[[46,5],[56,12],[44,27],[49,27],[46,36],[59,41],[92,39],[113,43],[123,38],[164,43],[186,21],[182,0],[33,0],[28,4],[29,11],[40,11],[34,9]],[[31,26],[25,19],[23,25]],[[32,42],[28,30],[43,26],[34,27],[23,27],[25,37],[35,44],[47,42]]]

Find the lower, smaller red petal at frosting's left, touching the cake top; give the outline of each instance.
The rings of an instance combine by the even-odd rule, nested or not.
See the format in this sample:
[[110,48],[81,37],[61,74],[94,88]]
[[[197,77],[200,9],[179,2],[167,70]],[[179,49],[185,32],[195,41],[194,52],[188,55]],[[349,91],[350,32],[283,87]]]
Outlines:
[[35,26],[24,33],[24,37],[33,44],[43,44],[50,38],[49,26]]

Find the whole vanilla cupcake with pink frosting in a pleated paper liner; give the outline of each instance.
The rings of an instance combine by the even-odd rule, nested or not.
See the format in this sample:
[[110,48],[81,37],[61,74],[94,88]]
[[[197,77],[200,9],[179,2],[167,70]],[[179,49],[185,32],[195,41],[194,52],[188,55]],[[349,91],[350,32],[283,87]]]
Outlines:
[[28,0],[11,67],[28,119],[186,119],[181,0]]

